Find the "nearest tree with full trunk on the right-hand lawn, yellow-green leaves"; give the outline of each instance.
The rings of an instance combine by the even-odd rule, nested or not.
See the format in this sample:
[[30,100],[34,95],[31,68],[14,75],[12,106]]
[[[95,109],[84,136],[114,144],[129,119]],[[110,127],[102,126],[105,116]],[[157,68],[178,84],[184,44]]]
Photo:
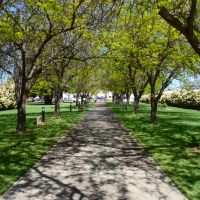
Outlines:
[[[149,53],[146,55],[146,61],[151,63],[147,76],[151,91],[152,123],[157,123],[158,101],[165,88],[183,70],[194,66],[196,61],[184,39],[180,39],[172,27],[163,29],[159,20],[156,24],[153,28],[156,32],[152,33],[154,43],[149,46]],[[188,55],[190,58],[187,58]]]

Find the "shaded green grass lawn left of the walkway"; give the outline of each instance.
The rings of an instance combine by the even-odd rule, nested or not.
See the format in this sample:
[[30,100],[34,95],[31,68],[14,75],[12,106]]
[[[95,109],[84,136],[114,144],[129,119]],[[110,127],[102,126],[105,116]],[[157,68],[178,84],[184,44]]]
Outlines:
[[[35,125],[45,107],[46,124]],[[87,110],[87,108],[84,108]],[[27,105],[27,132],[16,135],[17,111],[0,111],[0,194],[33,166],[85,114],[73,104],[61,105],[61,117],[53,117],[54,105]]]

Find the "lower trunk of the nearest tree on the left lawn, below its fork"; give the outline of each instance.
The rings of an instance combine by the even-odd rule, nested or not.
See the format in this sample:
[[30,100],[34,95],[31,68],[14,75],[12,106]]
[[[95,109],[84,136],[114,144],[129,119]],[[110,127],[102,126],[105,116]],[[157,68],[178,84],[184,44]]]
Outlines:
[[[20,93],[20,91],[19,91]],[[26,94],[17,98],[17,128],[18,134],[23,134],[26,130]]]

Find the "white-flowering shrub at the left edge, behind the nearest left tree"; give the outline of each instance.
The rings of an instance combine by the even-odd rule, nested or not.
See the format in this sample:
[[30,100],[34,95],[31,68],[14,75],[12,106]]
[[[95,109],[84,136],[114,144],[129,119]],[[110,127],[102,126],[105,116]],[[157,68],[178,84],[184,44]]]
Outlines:
[[7,81],[0,85],[0,110],[12,109],[16,107],[14,83]]

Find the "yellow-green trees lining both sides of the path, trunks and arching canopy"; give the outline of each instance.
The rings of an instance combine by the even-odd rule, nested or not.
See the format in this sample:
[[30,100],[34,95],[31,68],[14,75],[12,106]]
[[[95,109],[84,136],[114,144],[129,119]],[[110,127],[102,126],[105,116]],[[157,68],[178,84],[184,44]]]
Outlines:
[[133,93],[137,113],[148,89],[156,123],[172,80],[199,74],[198,8],[197,0],[1,0],[0,69],[14,80],[17,133],[25,132],[26,99],[37,80],[54,94],[56,116],[63,90]]

